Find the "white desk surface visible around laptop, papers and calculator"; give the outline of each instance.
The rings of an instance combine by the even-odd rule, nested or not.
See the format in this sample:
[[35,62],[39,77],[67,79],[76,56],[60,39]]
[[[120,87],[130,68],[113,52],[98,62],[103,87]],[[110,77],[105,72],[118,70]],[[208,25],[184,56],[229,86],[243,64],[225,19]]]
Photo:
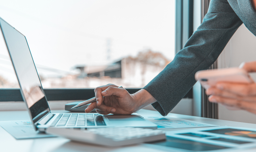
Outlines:
[[[67,112],[65,110],[52,110],[53,113]],[[151,110],[139,110],[137,112],[141,116],[161,116],[157,111]],[[256,124],[248,124],[243,122],[234,122],[226,120],[215,120],[210,118],[201,118],[195,116],[186,116],[182,114],[169,113],[168,116],[182,118],[197,122],[204,122],[214,125],[228,125],[246,128],[256,128]],[[13,120],[29,120],[29,114],[27,111],[0,111],[0,121],[13,121]],[[181,128],[188,129],[188,128]],[[180,130],[180,129],[165,129],[168,130]],[[106,148],[98,145],[89,145],[84,143],[75,143],[68,139],[61,137],[44,138],[44,139],[27,139],[27,140],[16,140],[8,132],[0,127],[0,151],[1,152],[162,152],[160,149],[154,149],[147,147],[144,144],[131,145],[126,147],[118,148]],[[256,151],[251,149],[248,151]]]

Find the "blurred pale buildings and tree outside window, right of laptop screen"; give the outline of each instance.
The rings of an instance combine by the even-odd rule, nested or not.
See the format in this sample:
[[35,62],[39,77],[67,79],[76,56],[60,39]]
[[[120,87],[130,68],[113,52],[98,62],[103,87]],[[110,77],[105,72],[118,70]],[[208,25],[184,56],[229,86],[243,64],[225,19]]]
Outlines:
[[42,80],[44,88],[95,88],[108,83],[123,87],[144,87],[170,63],[161,53],[141,52],[110,65],[77,66],[80,74]]

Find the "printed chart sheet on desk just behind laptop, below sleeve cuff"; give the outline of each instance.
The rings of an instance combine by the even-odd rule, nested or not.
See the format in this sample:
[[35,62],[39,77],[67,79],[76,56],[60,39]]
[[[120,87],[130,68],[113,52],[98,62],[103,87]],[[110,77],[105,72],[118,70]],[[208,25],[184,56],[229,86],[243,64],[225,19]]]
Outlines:
[[211,124],[205,124],[202,122],[195,122],[174,117],[144,117],[145,119],[157,124],[158,128],[191,128],[191,127],[208,127],[217,126]]

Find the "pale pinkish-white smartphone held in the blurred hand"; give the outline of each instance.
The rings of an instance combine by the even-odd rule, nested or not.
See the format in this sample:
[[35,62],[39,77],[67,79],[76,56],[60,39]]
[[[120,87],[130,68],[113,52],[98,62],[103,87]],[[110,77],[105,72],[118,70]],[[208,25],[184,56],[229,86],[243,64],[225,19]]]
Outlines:
[[195,79],[199,80],[205,89],[215,86],[218,82],[253,83],[250,75],[240,68],[197,71]]

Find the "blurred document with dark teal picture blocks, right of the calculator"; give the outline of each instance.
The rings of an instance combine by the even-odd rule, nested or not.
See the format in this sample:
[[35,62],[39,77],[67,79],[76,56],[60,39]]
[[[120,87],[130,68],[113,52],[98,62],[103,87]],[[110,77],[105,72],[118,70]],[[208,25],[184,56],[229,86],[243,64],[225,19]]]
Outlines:
[[244,151],[256,147],[256,129],[231,126],[166,132],[166,141],[150,143],[166,151]]

